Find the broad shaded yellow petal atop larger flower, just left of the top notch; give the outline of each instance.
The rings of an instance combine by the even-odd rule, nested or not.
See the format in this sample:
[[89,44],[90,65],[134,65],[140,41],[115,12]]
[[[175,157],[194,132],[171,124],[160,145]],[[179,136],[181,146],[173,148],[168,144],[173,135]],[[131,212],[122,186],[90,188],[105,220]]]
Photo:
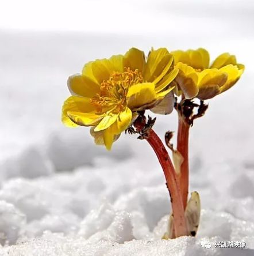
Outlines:
[[130,48],[124,55],[124,66],[129,67],[131,70],[143,72],[145,66],[145,54],[144,51],[140,51],[137,48]]

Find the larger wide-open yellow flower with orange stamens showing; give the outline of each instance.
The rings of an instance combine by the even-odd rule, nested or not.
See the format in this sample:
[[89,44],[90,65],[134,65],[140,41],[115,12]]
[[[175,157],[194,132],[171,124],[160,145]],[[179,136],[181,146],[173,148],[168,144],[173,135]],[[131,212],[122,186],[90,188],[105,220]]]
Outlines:
[[131,48],[125,55],[88,62],[82,74],[68,78],[72,96],[64,101],[62,121],[69,127],[91,126],[95,143],[110,149],[137,111],[171,111],[174,88],[169,84],[177,74],[166,48],[152,49],[147,61],[143,51]]

